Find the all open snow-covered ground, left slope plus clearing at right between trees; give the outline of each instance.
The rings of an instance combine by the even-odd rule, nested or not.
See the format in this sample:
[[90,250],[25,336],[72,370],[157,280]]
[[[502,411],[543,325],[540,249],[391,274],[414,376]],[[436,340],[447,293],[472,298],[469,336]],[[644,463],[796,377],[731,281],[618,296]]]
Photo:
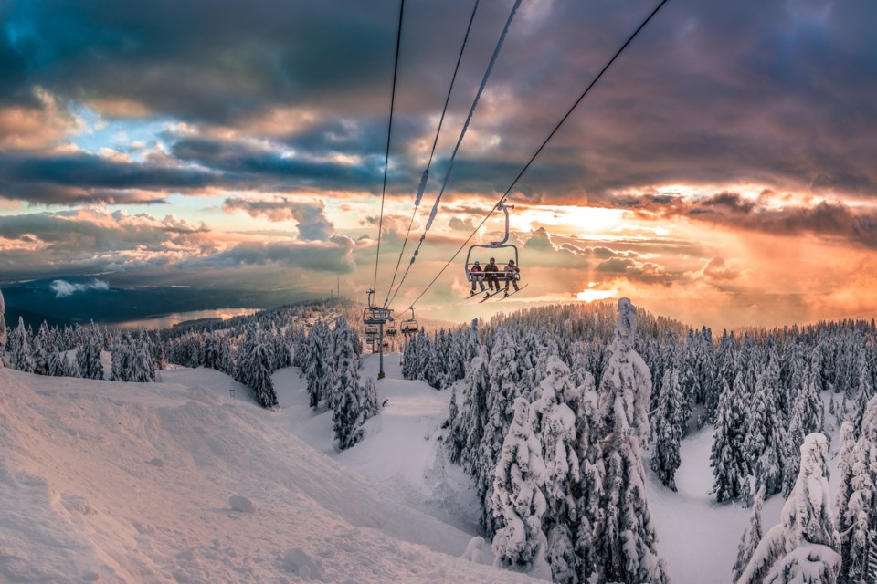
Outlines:
[[[0,581],[534,581],[460,558],[479,508],[439,442],[450,392],[402,380],[398,355],[385,369],[386,407],[343,453],[294,368],[274,375],[278,412],[214,370],[143,384],[0,370]],[[678,493],[647,471],[677,584],[729,581],[749,515],[708,494],[711,444],[711,428],[683,441]],[[766,502],[766,529],[782,505]]]

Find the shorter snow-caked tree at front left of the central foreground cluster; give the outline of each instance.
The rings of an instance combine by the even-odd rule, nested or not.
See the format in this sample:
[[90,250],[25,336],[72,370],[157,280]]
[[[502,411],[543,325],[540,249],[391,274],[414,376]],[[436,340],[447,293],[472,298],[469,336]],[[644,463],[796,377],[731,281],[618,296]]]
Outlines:
[[513,418],[502,442],[493,479],[493,514],[502,526],[493,536],[494,564],[530,571],[544,566],[547,541],[542,516],[547,510],[540,488],[545,480],[542,447],[533,434],[530,404],[514,400]]

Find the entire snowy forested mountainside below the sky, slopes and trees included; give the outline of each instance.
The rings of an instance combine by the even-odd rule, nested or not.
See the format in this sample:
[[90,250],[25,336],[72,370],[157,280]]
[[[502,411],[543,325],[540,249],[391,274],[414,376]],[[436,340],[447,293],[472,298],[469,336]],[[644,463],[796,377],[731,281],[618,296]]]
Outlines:
[[[10,323],[3,582],[873,582],[873,321]],[[351,324],[354,323],[354,324]]]

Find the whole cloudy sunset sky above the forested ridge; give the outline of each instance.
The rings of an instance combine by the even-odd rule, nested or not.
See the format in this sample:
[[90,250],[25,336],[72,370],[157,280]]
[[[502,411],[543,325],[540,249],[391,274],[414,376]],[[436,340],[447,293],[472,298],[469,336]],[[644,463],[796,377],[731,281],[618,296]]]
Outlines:
[[713,328],[874,316],[866,0],[669,0],[512,189],[530,286],[478,304],[464,242],[658,4],[523,0],[410,265],[512,4],[478,7],[416,209],[473,2],[405,3],[381,215],[396,1],[0,3],[0,286],[188,288],[201,310],[376,283],[445,320],[621,296]]

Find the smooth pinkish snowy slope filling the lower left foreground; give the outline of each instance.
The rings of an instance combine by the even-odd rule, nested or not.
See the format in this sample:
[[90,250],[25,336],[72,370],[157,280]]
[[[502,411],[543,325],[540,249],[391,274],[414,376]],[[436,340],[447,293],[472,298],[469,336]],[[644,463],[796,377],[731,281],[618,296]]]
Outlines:
[[304,412],[232,401],[216,371],[163,379],[0,370],[0,581],[534,581],[457,558],[470,534],[302,441]]

